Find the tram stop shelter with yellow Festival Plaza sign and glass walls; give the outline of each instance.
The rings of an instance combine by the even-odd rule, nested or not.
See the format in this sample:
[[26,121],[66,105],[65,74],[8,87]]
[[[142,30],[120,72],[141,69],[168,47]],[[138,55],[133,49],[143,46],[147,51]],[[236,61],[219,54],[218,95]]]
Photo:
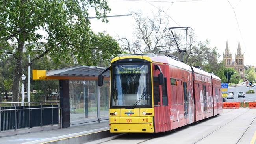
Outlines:
[[59,80],[61,127],[109,119],[110,72],[105,72],[102,87],[97,66],[71,66],[54,70],[33,70],[33,80]]

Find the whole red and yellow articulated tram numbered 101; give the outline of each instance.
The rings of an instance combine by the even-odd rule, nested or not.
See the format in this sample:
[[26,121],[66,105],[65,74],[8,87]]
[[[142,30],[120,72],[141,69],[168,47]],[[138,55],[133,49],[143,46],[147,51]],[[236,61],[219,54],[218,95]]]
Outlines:
[[221,79],[171,57],[115,57],[106,70],[111,133],[170,131],[222,113]]

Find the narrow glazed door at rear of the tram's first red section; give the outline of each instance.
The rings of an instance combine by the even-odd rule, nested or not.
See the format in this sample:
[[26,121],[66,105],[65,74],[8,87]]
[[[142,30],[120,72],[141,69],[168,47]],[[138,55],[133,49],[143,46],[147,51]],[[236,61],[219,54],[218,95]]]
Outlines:
[[189,123],[189,98],[187,94],[187,82],[183,82],[183,98],[184,98],[184,124]]

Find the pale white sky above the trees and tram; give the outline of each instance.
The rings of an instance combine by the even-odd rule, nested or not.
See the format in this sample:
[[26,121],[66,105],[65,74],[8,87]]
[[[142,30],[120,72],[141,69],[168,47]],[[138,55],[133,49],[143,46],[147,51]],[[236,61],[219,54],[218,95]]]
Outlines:
[[[158,8],[162,9],[168,15],[163,13],[165,17],[171,17],[180,26],[193,28],[197,41],[208,39],[210,47],[217,47],[221,55],[219,60],[223,59],[227,40],[234,60],[240,41],[245,65],[256,66],[256,0],[108,0],[108,4],[111,8],[108,15],[126,15],[129,11],[138,10],[152,15],[152,11],[156,13]],[[90,13],[90,17],[94,16]],[[117,35],[133,37],[135,20],[132,16],[108,20],[109,23],[102,23],[101,20],[91,19],[91,29],[95,32],[106,31],[115,38]],[[169,27],[178,26],[173,20],[169,20]]]

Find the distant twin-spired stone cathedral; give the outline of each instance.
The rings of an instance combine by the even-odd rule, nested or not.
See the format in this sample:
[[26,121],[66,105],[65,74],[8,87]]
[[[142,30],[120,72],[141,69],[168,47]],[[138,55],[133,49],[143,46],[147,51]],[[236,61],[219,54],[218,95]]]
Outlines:
[[235,60],[232,60],[232,54],[229,52],[228,41],[226,42],[226,49],[223,53],[223,61],[226,68],[234,68],[242,79],[245,79],[244,57],[241,50],[240,42],[238,42],[237,52],[235,53]]

